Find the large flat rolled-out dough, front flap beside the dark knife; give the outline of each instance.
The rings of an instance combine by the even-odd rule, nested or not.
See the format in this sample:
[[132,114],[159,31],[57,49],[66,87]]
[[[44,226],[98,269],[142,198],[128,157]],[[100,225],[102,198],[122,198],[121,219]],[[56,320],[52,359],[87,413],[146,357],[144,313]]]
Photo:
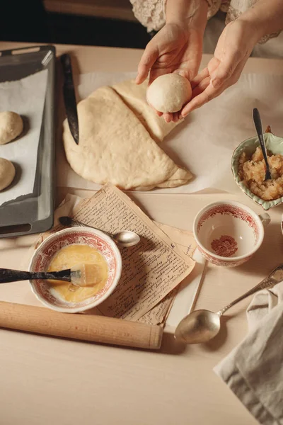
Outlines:
[[[79,145],[64,121],[64,148],[71,168],[86,180],[110,182],[125,190],[174,187],[190,180],[190,171],[180,168],[158,147],[142,123],[144,118],[136,113],[117,93],[117,87],[100,87],[81,101]],[[149,118],[146,122],[150,126]]]

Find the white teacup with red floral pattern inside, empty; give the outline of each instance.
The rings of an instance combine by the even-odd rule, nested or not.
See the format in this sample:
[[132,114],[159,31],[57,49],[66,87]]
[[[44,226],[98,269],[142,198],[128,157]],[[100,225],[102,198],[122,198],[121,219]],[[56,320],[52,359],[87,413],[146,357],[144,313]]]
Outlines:
[[220,201],[198,212],[193,232],[204,258],[217,266],[239,266],[258,251],[270,223],[265,212],[257,215],[242,203]]

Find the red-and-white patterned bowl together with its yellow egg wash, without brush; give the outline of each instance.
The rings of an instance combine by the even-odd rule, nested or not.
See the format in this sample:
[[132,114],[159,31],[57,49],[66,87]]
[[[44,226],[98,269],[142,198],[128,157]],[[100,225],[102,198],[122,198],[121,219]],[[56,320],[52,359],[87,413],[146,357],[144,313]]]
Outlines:
[[120,280],[122,258],[115,242],[99,230],[71,227],[51,234],[36,249],[29,270],[62,270],[79,263],[100,264],[105,273],[100,286],[81,288],[58,280],[30,280],[37,300],[52,310],[69,313],[91,309],[106,300]]

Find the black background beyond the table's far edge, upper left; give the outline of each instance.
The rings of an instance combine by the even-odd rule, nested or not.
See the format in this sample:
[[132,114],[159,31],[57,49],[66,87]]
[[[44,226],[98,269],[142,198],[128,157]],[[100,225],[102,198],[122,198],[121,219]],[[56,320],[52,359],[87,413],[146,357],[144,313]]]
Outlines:
[[47,42],[143,49],[150,40],[139,22],[50,13],[40,0],[5,0],[1,41]]

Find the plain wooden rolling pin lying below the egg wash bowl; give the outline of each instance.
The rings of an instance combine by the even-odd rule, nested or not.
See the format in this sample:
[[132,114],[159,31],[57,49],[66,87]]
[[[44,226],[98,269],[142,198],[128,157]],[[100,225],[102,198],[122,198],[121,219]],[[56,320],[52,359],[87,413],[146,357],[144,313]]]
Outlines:
[[54,312],[43,307],[0,301],[0,327],[136,348],[158,349],[163,328],[93,314]]

